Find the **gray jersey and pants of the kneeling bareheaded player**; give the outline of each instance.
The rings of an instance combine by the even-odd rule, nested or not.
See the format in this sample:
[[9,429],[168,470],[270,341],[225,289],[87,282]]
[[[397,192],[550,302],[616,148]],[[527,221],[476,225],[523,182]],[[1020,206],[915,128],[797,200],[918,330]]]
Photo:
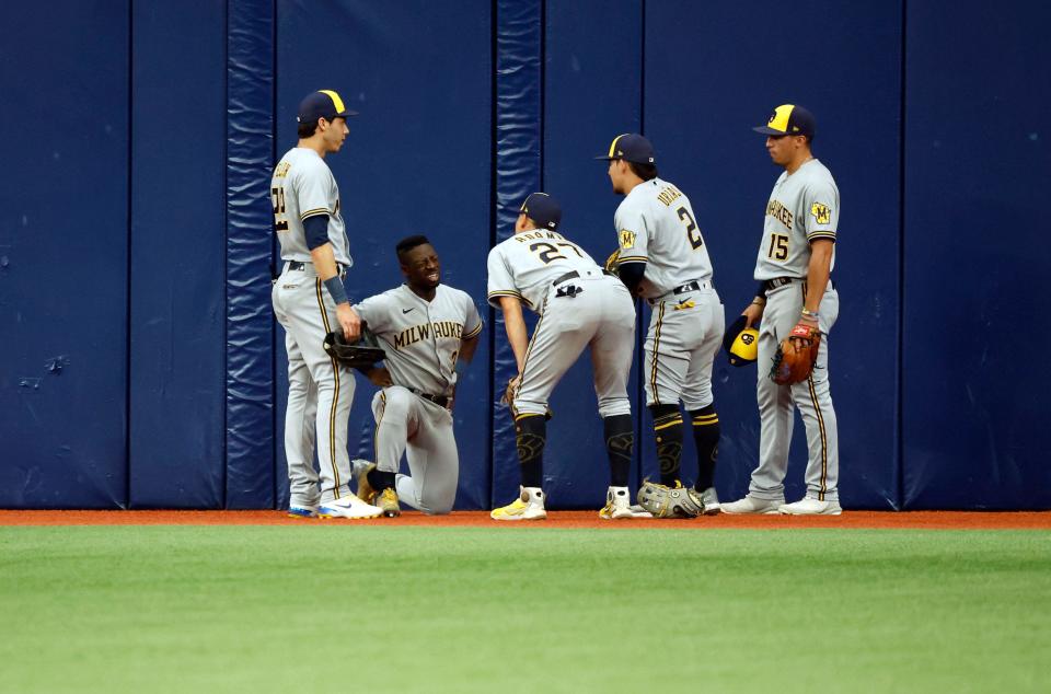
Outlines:
[[461,340],[482,332],[478,310],[466,292],[444,285],[430,301],[402,285],[356,308],[386,352],[394,382],[372,400],[377,467],[396,473],[404,454],[409,474],[395,477],[399,499],[448,513],[460,474],[452,413],[418,393],[452,396]]

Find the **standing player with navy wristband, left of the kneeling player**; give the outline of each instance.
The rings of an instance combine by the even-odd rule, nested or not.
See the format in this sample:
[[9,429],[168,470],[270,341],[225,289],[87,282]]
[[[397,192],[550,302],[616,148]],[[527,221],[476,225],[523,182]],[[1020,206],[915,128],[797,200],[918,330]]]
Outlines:
[[[328,332],[357,339],[360,317],[350,306],[343,278],[350,267],[349,242],[339,213],[339,188],[325,164],[349,134],[349,111],[334,91],[308,95],[299,105],[299,142],[274,167],[270,196],[284,269],[272,299],[285,327],[288,352],[288,412],[285,454],[289,514],[376,518],[381,510],[349,490],[347,417],[354,375],[325,354]],[[321,469],[314,471],[314,435]]]

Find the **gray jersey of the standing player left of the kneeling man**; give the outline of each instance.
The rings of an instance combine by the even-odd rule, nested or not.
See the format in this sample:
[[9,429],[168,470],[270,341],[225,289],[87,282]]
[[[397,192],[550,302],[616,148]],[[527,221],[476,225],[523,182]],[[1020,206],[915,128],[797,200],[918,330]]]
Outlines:
[[317,152],[293,147],[274,167],[270,181],[274,225],[281,244],[282,261],[310,263],[303,220],[314,215],[328,215],[328,241],[336,263],[350,267],[350,243],[339,212],[339,187]]

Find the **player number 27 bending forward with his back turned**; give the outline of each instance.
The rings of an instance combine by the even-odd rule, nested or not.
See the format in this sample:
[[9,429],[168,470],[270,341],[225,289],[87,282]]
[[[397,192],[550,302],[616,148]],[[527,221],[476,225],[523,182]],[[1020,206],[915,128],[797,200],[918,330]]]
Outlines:
[[[635,304],[623,284],[556,231],[561,220],[557,200],[533,193],[522,204],[515,235],[489,251],[488,300],[504,313],[518,365],[506,400],[515,416],[522,481],[519,497],[490,513],[495,520],[547,517],[542,490],[547,401],[585,347],[591,348],[610,460],[610,488],[599,516],[620,519],[636,514],[627,491],[635,446],[627,400]],[[522,304],[540,315],[531,339],[527,339]]]

